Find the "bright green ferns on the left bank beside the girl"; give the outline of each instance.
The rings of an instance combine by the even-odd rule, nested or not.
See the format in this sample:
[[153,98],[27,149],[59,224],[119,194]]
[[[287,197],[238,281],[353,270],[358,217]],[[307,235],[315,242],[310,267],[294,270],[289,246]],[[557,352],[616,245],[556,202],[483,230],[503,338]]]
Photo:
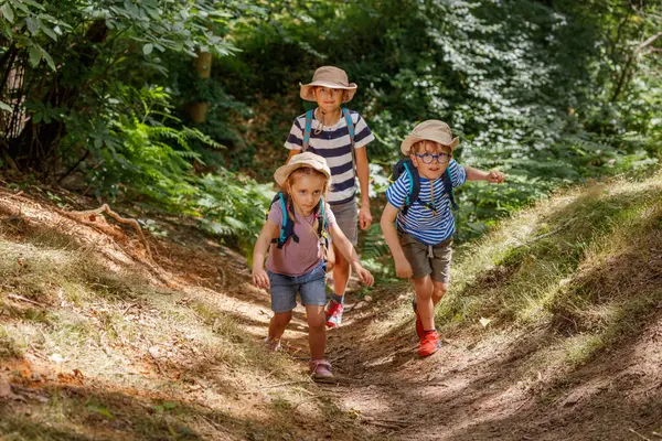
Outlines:
[[136,99],[135,107],[142,111],[109,110],[107,130],[93,142],[95,162],[86,171],[97,194],[156,203],[171,213],[200,218],[204,229],[236,245],[252,243],[273,192],[224,169],[194,174],[194,165],[204,163],[190,141],[207,149],[222,146],[197,129],[173,127],[180,121],[171,115],[170,96],[162,88],[140,90]]

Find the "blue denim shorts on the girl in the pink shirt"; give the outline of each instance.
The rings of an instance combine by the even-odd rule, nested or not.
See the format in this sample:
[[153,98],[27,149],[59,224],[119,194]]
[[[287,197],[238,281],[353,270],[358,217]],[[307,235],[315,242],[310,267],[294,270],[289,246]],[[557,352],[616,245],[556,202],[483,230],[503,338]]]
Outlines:
[[289,312],[297,306],[297,292],[301,304],[327,304],[327,266],[320,263],[302,276],[277,275],[267,270],[271,291],[271,311]]

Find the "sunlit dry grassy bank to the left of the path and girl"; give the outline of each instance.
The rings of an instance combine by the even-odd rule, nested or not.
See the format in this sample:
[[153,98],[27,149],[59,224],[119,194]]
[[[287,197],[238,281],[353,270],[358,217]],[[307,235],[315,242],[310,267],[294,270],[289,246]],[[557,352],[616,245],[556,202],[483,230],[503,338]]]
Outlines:
[[[344,416],[295,387],[261,390],[282,381],[311,385],[307,365],[266,351],[218,302],[223,293],[154,283],[140,265],[107,261],[46,227],[28,228],[24,237],[2,233],[0,359],[26,361],[34,369],[23,377],[25,367],[14,368],[12,381],[53,383],[39,392],[47,402],[30,405],[30,417],[6,409],[0,432],[17,439],[274,439],[300,430],[285,410],[303,398],[318,423],[331,410]],[[60,374],[79,384],[70,388]],[[271,396],[281,406],[271,406]]]

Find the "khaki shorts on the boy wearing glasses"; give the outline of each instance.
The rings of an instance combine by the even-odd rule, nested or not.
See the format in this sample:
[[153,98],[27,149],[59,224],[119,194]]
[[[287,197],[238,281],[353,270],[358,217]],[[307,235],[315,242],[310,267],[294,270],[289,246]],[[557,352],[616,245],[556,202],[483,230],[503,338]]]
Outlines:
[[452,258],[452,238],[433,245],[433,256],[429,257],[430,246],[425,245],[408,233],[397,232],[405,257],[414,271],[414,279],[430,275],[436,282],[450,281],[450,259]]

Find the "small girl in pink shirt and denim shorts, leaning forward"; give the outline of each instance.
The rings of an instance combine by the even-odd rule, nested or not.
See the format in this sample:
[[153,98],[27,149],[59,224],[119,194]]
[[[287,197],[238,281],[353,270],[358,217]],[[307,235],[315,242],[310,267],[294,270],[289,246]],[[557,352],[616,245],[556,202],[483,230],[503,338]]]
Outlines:
[[[361,281],[370,287],[374,279],[361,266],[352,243],[338,226],[329,204],[322,197],[331,179],[327,161],[311,152],[300,153],[276,170],[274,179],[282,193],[269,209],[253,250],[253,282],[258,288],[270,290],[271,310],[275,313],[266,341],[273,348],[278,347],[297,305],[298,292],[308,318],[310,373],[314,379],[330,378],[333,377],[331,365],[324,361],[327,232]],[[269,248],[273,243],[277,246]]]

